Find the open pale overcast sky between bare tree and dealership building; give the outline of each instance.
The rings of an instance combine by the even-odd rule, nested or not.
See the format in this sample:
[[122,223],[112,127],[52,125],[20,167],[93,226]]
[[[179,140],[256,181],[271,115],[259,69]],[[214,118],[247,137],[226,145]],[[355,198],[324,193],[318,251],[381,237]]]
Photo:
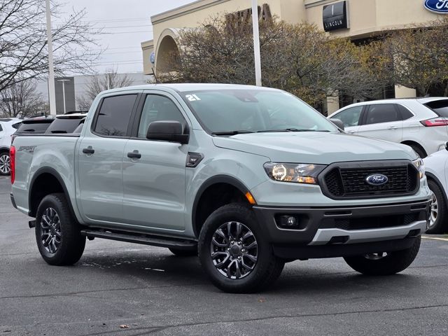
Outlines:
[[[63,15],[69,15],[72,8],[87,14],[85,20],[94,27],[103,28],[99,36],[100,48],[107,50],[99,60],[96,70],[115,67],[119,73],[143,71],[141,55],[142,41],[153,38],[151,16],[165,12],[194,0],[57,0],[66,3]],[[62,16],[63,16],[62,15]],[[58,20],[54,18],[55,22]]]

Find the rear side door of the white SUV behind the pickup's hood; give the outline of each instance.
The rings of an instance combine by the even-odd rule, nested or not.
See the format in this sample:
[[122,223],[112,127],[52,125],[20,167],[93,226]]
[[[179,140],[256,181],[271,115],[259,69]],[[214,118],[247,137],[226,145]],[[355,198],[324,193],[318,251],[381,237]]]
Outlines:
[[371,104],[363,116],[358,134],[381,140],[402,141],[402,117],[397,104]]

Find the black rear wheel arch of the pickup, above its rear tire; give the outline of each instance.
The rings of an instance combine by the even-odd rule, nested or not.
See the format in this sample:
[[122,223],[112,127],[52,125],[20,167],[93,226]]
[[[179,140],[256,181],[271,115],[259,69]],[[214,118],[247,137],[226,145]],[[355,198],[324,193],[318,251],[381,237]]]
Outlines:
[[28,216],[36,217],[37,208],[41,203],[41,200],[46,195],[50,195],[52,193],[63,193],[65,195],[67,203],[69,204],[70,214],[76,219],[75,212],[73,211],[73,206],[71,204],[69,191],[65,186],[64,180],[56,169],[50,167],[38,169],[32,177],[31,183],[29,183]]

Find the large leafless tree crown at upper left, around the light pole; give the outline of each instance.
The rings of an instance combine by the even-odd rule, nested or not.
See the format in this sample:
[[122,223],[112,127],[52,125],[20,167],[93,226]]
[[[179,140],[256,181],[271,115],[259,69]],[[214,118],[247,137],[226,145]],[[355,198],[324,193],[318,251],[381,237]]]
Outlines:
[[[58,18],[59,5],[52,2]],[[90,71],[99,57],[94,36],[99,33],[83,21],[85,10],[59,19],[52,29],[55,72]],[[62,20],[62,21],[61,21]],[[0,0],[0,91],[48,72],[45,1]]]

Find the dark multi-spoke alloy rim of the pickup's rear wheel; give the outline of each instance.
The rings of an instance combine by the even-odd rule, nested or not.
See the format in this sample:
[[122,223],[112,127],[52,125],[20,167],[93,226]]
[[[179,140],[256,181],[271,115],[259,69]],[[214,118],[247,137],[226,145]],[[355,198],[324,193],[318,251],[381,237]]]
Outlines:
[[41,218],[41,242],[49,253],[56,253],[61,244],[61,221],[56,210],[47,208]]

